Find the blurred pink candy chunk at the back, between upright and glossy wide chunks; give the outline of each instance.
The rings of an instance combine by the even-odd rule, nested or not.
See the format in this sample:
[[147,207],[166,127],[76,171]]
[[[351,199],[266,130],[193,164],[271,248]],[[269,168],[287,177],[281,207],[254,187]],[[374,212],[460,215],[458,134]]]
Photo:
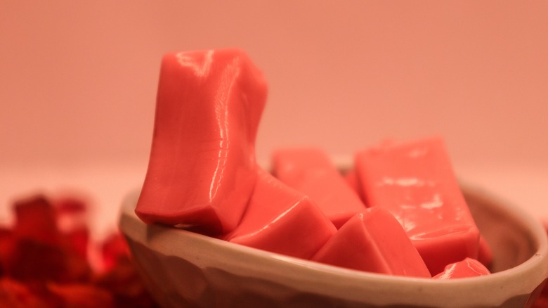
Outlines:
[[318,148],[292,148],[273,154],[273,173],[311,197],[339,228],[365,207],[330,158]]

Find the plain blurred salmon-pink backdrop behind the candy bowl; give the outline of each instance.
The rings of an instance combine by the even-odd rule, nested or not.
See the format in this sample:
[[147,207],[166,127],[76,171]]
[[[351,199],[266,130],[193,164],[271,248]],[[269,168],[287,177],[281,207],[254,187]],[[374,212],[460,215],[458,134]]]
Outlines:
[[228,46],[269,82],[261,161],[441,134],[459,177],[548,217],[547,38],[548,1],[0,0],[0,217],[76,189],[111,228],[143,181],[160,57]]

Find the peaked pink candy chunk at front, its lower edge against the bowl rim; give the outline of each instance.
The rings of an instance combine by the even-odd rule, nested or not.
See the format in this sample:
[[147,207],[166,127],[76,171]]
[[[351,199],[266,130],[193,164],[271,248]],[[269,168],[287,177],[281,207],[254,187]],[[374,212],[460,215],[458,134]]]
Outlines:
[[402,226],[381,207],[352,217],[312,260],[374,273],[431,277]]

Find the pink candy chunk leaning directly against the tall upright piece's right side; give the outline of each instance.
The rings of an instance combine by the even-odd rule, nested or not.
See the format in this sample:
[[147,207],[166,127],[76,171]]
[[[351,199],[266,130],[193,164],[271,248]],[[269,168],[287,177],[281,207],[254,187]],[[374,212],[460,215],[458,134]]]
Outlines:
[[262,169],[230,242],[310,259],[337,231],[311,198]]

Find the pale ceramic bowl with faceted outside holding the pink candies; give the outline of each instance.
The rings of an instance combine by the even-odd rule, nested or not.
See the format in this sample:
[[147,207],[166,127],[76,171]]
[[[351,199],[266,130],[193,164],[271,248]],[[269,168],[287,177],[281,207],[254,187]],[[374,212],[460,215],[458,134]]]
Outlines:
[[548,277],[540,222],[481,190],[462,190],[493,251],[488,276],[441,281],[372,274],[148,226],[133,213],[138,191],[124,200],[119,224],[162,307],[530,306]]

